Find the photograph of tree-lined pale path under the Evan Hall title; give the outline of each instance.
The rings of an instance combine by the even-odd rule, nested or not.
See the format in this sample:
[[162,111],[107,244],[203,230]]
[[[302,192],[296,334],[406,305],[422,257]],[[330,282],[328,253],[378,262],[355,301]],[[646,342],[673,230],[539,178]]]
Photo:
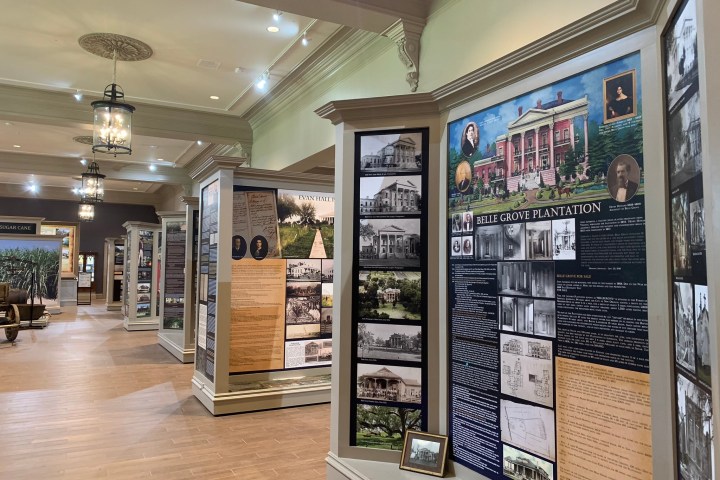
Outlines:
[[283,258],[332,258],[335,195],[278,190],[277,218]]

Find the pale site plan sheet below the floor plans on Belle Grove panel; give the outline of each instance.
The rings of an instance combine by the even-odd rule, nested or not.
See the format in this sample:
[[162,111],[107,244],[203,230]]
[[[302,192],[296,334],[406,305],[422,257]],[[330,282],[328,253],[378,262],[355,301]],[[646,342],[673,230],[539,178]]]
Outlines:
[[547,408],[500,400],[501,439],[555,461],[555,412]]

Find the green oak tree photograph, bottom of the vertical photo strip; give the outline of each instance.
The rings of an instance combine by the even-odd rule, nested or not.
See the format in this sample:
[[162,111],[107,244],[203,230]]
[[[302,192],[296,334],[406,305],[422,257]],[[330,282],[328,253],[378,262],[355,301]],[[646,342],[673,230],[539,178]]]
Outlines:
[[420,410],[382,405],[358,405],[355,444],[358,447],[400,451],[405,432],[420,430]]

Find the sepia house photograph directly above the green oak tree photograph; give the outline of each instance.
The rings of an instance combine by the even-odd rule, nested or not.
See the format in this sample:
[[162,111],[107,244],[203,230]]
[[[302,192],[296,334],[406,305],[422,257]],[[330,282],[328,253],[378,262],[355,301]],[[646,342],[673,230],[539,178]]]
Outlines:
[[422,369],[357,364],[357,398],[400,403],[421,403]]

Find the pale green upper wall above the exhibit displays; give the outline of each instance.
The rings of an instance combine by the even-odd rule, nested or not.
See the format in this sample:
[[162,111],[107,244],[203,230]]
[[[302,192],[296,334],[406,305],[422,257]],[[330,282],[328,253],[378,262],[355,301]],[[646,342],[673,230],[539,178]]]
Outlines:
[[[428,20],[421,39],[420,85],[431,91],[560,28],[612,0],[449,0]],[[280,170],[333,145],[335,131],[314,110],[332,100],[410,93],[405,67],[389,39],[380,55],[330,88],[308,90],[253,132],[252,166]]]

